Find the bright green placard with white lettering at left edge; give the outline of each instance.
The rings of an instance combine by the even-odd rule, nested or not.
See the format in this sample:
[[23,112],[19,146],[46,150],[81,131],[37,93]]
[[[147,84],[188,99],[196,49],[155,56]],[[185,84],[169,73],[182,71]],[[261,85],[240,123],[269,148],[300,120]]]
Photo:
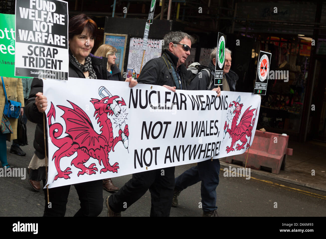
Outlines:
[[[15,15],[0,13],[0,75],[15,76]],[[31,78],[31,77],[23,77]]]

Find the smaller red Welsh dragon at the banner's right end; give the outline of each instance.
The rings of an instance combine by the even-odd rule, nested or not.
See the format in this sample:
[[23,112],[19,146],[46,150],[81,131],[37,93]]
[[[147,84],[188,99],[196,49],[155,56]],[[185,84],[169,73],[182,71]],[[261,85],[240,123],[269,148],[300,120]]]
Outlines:
[[[232,142],[231,142],[231,146],[227,146],[226,147],[226,152],[230,153],[230,151],[234,151],[234,144],[240,140],[242,142],[242,144],[237,144],[237,146],[235,147],[236,150],[241,150],[244,149],[244,145],[247,143],[247,139],[246,136],[249,137],[249,143],[247,143],[246,148],[249,147],[250,144],[250,140],[251,140],[251,134],[252,134],[252,128],[255,125],[255,119],[257,116],[257,109],[250,109],[250,107],[248,107],[248,109],[246,109],[240,119],[239,124],[237,125],[237,121],[239,119],[239,116],[241,114],[241,109],[243,107],[243,104],[240,104],[241,98],[240,96],[238,97],[238,99],[236,101],[232,101],[229,105],[229,109],[228,109],[228,113],[227,113],[227,121],[230,122],[230,120],[232,119],[232,124],[231,124],[231,129],[229,128],[229,124],[227,124],[227,121],[225,121],[225,125],[224,125],[224,137],[226,133],[229,133],[230,137],[232,137]],[[252,117],[254,116],[254,111],[256,110],[256,115],[255,118],[252,119]],[[232,115],[234,114],[233,118]],[[251,125],[251,120],[252,120],[252,125]]]

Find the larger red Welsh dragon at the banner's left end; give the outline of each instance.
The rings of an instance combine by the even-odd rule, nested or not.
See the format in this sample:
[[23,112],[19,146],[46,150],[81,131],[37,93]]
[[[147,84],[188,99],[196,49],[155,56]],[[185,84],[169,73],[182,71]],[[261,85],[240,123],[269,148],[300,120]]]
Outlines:
[[100,134],[96,133],[90,118],[79,106],[69,100],[67,101],[72,105],[72,109],[66,106],[57,105],[57,107],[64,111],[64,114],[61,117],[65,120],[66,133],[68,134],[66,137],[60,139],[59,137],[63,133],[63,126],[60,123],[52,124],[52,117],[55,120],[55,108],[51,102],[51,108],[47,114],[49,136],[52,139],[52,143],[59,148],[52,157],[52,160],[55,161],[54,164],[58,172],[54,180],[58,178],[70,179],[69,174],[72,172],[69,170],[71,170],[71,168],[67,167],[62,171],[60,168],[60,159],[65,156],[70,157],[75,152],[77,152],[77,156],[72,159],[71,166],[74,165],[81,169],[77,176],[85,173],[89,175],[96,173],[96,164],[93,163],[89,167],[84,165],[90,157],[97,159],[99,165],[103,163],[104,168],[100,170],[100,173],[107,171],[118,172],[118,163],[114,163],[112,166],[109,164],[108,153],[110,153],[111,150],[114,152],[114,146],[123,139],[122,135],[128,137],[129,132],[128,125],[126,125],[124,131],[119,129],[119,136],[115,138],[113,137],[112,122],[108,118],[108,115],[113,115],[114,113],[111,106],[114,105],[114,107],[118,106],[118,108],[120,108],[120,106],[126,105],[123,99],[122,101],[119,101],[115,100],[116,98],[119,97],[108,96],[103,98],[102,96],[101,100],[93,98],[90,100],[95,108],[94,116],[96,116],[97,123],[99,123],[99,126],[101,127]]

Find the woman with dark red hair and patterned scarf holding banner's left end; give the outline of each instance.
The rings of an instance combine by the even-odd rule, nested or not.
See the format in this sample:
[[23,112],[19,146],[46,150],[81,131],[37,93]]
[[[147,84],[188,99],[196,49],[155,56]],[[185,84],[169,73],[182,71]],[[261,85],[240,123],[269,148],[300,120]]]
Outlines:
[[[97,58],[90,54],[94,46],[96,29],[95,21],[85,14],[74,16],[69,20],[69,77],[108,79],[107,58]],[[133,87],[135,83],[137,84],[137,82],[130,81],[129,86]],[[34,148],[37,156],[35,160],[38,162],[42,162],[45,158],[43,113],[48,106],[47,98],[42,92],[43,81],[34,78],[25,111],[27,118],[37,123]],[[43,185],[45,185],[45,180],[43,180]],[[81,202],[81,208],[75,216],[98,216],[103,209],[102,179],[78,183],[74,186]],[[44,190],[46,203],[43,216],[65,216],[69,190],[70,185],[50,188],[51,207],[47,204],[47,192]]]

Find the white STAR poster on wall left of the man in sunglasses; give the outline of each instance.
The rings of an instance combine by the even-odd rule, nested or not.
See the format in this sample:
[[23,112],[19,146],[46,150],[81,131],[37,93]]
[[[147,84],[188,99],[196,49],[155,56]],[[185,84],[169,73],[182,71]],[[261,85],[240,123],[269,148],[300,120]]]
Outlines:
[[143,44],[143,39],[140,37],[131,37],[129,44],[127,78],[132,76],[137,79],[141,69],[141,59],[143,55],[142,47],[146,46],[143,65],[147,61],[160,57],[162,54],[162,41],[159,39],[148,39],[147,44]]

